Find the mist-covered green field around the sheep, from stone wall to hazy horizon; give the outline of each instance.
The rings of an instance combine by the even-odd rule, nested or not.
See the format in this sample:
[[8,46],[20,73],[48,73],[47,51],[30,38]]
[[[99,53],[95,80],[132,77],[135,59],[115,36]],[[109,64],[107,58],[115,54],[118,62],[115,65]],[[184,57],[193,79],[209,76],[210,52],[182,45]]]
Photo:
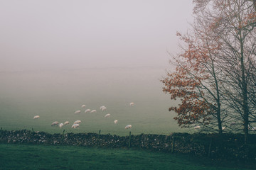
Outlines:
[[[1,72],[0,125],[6,130],[169,134],[181,132],[169,96],[161,91],[164,69],[157,67]],[[134,102],[134,106],[129,103]],[[81,108],[85,104],[85,108]],[[100,111],[100,106],[106,111]],[[96,113],[85,113],[87,108]],[[80,110],[81,113],[75,114]],[[105,115],[110,113],[110,118]],[[34,115],[40,118],[33,120]],[[117,119],[117,125],[114,120]],[[71,129],[81,120],[79,129]],[[51,127],[53,121],[70,125]],[[183,130],[184,131],[184,130]],[[186,130],[185,130],[186,131]]]

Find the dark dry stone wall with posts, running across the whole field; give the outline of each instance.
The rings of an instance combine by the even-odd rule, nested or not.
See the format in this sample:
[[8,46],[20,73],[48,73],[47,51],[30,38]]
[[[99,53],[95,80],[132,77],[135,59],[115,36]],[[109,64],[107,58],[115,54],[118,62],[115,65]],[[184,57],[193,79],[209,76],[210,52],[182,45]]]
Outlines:
[[174,152],[201,155],[215,159],[246,159],[256,161],[256,135],[250,135],[250,145],[243,144],[243,135],[224,134],[188,134],[172,133],[170,135],[141,134],[131,137],[117,135],[98,135],[97,133],[49,134],[30,130],[1,130],[0,142],[73,145],[84,147],[151,149],[161,152]]

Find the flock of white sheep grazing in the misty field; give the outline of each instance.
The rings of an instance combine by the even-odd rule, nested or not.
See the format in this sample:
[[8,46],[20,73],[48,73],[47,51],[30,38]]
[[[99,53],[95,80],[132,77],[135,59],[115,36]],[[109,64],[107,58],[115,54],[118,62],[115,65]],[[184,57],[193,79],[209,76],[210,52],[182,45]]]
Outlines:
[[[133,102],[132,102],[132,103],[129,103],[129,106],[134,106],[134,103],[133,103]],[[81,108],[85,108],[85,107],[86,107],[85,104],[83,104],[83,105],[81,106]],[[100,110],[101,110],[101,111],[105,111],[105,110],[107,110],[107,108],[106,108],[106,106],[100,106]],[[80,111],[80,110],[79,110],[79,111],[75,111],[75,114],[78,114],[78,113],[81,113],[81,111]],[[92,111],[91,111],[91,110],[88,108],[88,109],[85,110],[85,113],[96,113],[96,110],[92,110]],[[35,115],[35,116],[33,117],[33,119],[38,119],[38,118],[40,118],[39,115]],[[110,113],[107,113],[107,114],[105,115],[105,118],[110,118]],[[73,123],[73,125],[71,126],[71,128],[73,128],[73,129],[79,128],[79,125],[80,125],[81,122],[82,122],[81,120],[76,120],[76,121]],[[114,120],[114,124],[117,124],[117,123],[118,123],[118,120],[117,120],[117,119]],[[69,121],[65,121],[65,123],[59,123],[58,121],[54,121],[54,122],[51,124],[51,126],[59,126],[60,128],[63,128],[64,125],[68,125],[68,124],[70,124]],[[132,125],[127,125],[127,126],[124,127],[124,129],[130,129],[130,128],[132,128]]]

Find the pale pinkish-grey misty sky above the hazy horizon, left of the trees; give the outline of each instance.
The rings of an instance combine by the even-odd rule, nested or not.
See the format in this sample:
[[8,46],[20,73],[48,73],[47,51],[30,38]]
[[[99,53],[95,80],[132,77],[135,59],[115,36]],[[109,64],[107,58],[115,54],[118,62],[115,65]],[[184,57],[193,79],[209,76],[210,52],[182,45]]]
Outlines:
[[0,71],[168,67],[191,0],[0,0]]

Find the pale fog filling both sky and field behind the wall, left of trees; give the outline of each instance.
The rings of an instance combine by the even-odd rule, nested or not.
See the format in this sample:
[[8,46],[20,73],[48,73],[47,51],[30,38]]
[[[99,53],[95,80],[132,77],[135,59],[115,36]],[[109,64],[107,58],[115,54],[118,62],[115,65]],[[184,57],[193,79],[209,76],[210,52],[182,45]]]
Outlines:
[[[1,127],[59,132],[50,123],[80,119],[79,130],[67,130],[181,132],[159,79],[192,8],[188,0],[0,1]],[[97,113],[74,115],[82,104]]]

